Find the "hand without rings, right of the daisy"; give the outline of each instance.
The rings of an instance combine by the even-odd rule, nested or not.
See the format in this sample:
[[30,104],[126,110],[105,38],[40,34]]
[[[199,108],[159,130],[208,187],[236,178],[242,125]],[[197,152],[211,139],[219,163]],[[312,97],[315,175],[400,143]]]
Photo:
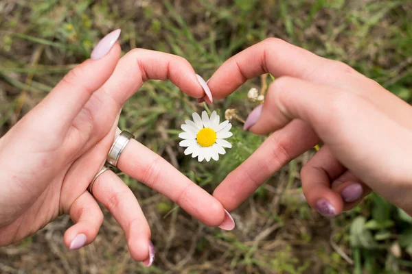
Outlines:
[[410,105],[346,64],[275,38],[227,60],[208,84],[220,99],[262,73],[278,79],[244,128],[274,133],[216,188],[214,197],[227,210],[323,141],[301,170],[310,206],[336,216],[371,189],[412,214]]

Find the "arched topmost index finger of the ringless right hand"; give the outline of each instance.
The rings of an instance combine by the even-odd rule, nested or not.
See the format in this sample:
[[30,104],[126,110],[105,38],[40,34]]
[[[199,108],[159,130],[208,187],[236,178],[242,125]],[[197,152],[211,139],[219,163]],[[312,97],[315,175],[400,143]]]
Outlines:
[[336,84],[350,66],[316,55],[277,38],[267,38],[227,60],[211,76],[209,88],[214,99],[222,99],[239,88],[247,79],[263,73],[274,77],[291,76],[315,84]]

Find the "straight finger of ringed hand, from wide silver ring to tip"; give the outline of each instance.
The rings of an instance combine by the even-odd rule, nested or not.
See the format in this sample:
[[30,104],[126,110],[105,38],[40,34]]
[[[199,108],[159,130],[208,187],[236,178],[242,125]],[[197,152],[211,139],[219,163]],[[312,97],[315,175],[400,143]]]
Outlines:
[[143,182],[179,204],[187,213],[209,226],[222,227],[225,209],[214,197],[159,155],[130,139],[119,158],[118,167],[124,173]]

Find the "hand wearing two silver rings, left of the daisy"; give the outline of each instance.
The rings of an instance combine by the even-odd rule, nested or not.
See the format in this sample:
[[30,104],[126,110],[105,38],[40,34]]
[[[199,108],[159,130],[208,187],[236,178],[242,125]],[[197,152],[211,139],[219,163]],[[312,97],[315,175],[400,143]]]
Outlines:
[[[178,56],[133,49],[119,59],[119,33],[105,36],[91,59],[0,138],[0,246],[35,233],[60,214],[70,214],[75,223],[65,232],[65,245],[88,245],[102,225],[100,201],[124,230],[131,256],[152,263],[150,227],[135,195],[111,169],[95,175],[115,140],[122,105],[146,80],[170,79],[196,98],[205,91],[192,66]],[[113,164],[122,172],[206,225],[233,228],[217,199],[137,140],[116,149]],[[87,191],[92,181],[93,196]]]

